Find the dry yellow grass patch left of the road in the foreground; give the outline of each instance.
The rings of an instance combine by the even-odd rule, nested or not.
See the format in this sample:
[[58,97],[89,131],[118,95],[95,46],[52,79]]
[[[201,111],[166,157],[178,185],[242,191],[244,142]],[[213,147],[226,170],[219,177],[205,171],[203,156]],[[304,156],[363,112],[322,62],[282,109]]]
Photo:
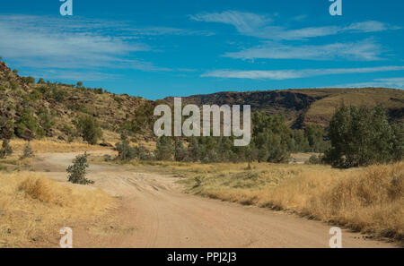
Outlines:
[[55,246],[58,230],[113,207],[107,193],[32,173],[0,173],[0,247]]

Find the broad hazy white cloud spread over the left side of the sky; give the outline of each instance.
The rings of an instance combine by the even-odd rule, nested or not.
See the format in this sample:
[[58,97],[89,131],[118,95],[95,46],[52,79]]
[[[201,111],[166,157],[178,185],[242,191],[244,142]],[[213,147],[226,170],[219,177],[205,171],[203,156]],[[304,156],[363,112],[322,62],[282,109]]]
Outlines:
[[78,16],[0,14],[0,56],[13,59],[21,66],[37,68],[39,72],[41,69],[42,73],[49,74],[48,78],[55,76],[50,69],[91,73],[82,80],[101,78],[100,69],[109,67],[167,72],[171,69],[140,59],[141,52],[155,50],[145,43],[145,36],[210,34],[170,27],[136,28],[129,21],[88,20]]

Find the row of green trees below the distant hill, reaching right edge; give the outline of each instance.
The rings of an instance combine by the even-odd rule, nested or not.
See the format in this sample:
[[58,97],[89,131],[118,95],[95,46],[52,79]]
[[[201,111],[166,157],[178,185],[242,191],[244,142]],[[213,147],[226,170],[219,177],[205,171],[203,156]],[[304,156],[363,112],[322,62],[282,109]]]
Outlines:
[[292,130],[283,116],[256,112],[250,145],[234,147],[233,137],[161,137],[151,152],[145,146],[116,144],[120,160],[175,160],[184,162],[272,162],[290,159],[291,152],[318,152],[309,163],[360,167],[398,161],[403,157],[404,127],[390,124],[385,109],[342,105],[326,129],[306,125]]

